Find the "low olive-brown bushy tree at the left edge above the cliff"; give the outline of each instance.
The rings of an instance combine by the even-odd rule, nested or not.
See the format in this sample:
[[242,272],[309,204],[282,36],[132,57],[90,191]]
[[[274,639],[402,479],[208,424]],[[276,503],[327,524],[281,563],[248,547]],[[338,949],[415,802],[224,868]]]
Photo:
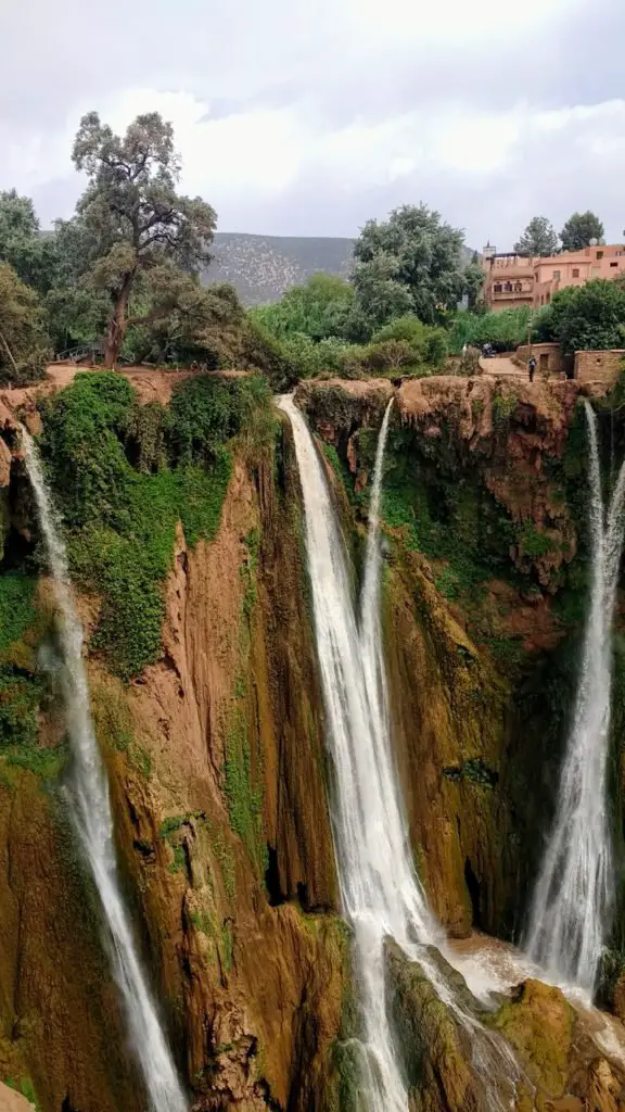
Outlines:
[[8,262],[0,262],[0,381],[21,386],[40,378],[48,358],[39,298]]

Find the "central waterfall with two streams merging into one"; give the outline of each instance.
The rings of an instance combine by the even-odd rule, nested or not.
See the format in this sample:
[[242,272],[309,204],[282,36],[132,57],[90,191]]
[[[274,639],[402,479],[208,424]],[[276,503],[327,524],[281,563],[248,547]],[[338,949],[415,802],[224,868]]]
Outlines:
[[[376,455],[359,623],[343,538],[315,443],[292,400],[282,398],[280,406],[292,426],[304,495],[317,656],[336,778],[333,830],[343,907],[355,935],[365,1027],[359,1044],[358,1108],[406,1112],[407,1089],[386,1009],[386,936],[395,939],[409,957],[418,959],[440,999],[469,1031],[477,1073],[487,1078],[498,1069],[514,1083],[517,1071],[513,1055],[460,1009],[423,949],[442,946],[444,940],[413,866],[397,790],[379,618],[378,515],[390,404]],[[485,1088],[488,1090],[488,1081]],[[495,1090],[485,1092],[485,1110],[507,1106]]]

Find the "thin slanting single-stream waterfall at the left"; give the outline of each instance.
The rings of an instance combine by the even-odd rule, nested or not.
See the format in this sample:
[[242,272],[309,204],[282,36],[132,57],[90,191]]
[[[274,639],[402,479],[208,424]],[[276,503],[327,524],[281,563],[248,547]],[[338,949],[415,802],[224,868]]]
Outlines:
[[187,1101],[141,970],[120,892],[108,781],[91,719],[82,663],[82,626],[73,605],[67,554],[41,460],[26,429],[22,439],[60,615],[61,683],[73,757],[71,814],[101,900],[115,979],[123,997],[132,1046],[141,1064],[152,1112],[186,1112]]

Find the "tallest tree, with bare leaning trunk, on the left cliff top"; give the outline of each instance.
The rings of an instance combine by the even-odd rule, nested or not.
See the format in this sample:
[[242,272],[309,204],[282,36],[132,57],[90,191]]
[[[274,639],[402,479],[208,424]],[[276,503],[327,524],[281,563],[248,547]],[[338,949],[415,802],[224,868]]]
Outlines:
[[[210,260],[216,214],[201,198],[182,197],[173,130],[158,112],[138,116],[125,137],[97,112],[81,120],[72,159],[89,185],[71,221],[83,277],[108,295],[105,366],[115,367],[126,331],[167,316]],[[131,311],[140,291],[142,310]]]

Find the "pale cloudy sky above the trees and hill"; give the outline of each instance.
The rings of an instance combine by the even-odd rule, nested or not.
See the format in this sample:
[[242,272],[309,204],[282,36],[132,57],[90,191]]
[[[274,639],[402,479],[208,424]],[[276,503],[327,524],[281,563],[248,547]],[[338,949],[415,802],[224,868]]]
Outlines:
[[0,7],[0,188],[43,225],[81,189],[81,115],[156,109],[221,231],[353,236],[424,200],[478,248],[579,208],[623,236],[624,0]]

